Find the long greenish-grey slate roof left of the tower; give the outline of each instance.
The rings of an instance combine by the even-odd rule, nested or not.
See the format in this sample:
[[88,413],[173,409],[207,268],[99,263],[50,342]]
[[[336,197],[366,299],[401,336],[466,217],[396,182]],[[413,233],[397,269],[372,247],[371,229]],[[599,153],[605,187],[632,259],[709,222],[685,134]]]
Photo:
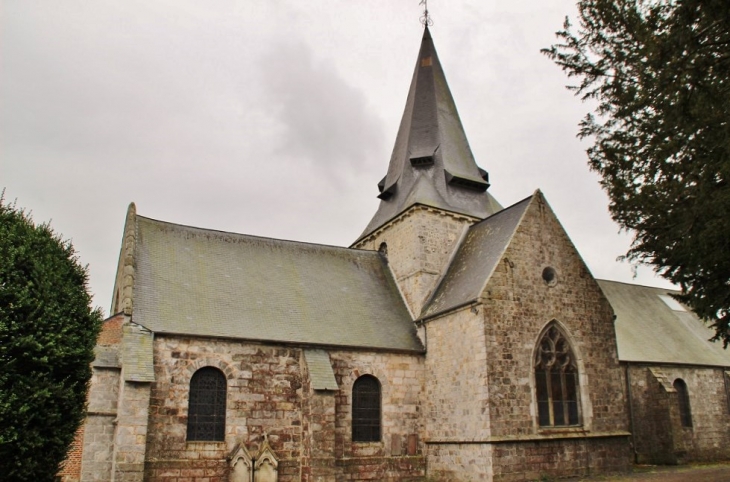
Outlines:
[[423,351],[377,252],[135,219],[133,321],[155,333]]

